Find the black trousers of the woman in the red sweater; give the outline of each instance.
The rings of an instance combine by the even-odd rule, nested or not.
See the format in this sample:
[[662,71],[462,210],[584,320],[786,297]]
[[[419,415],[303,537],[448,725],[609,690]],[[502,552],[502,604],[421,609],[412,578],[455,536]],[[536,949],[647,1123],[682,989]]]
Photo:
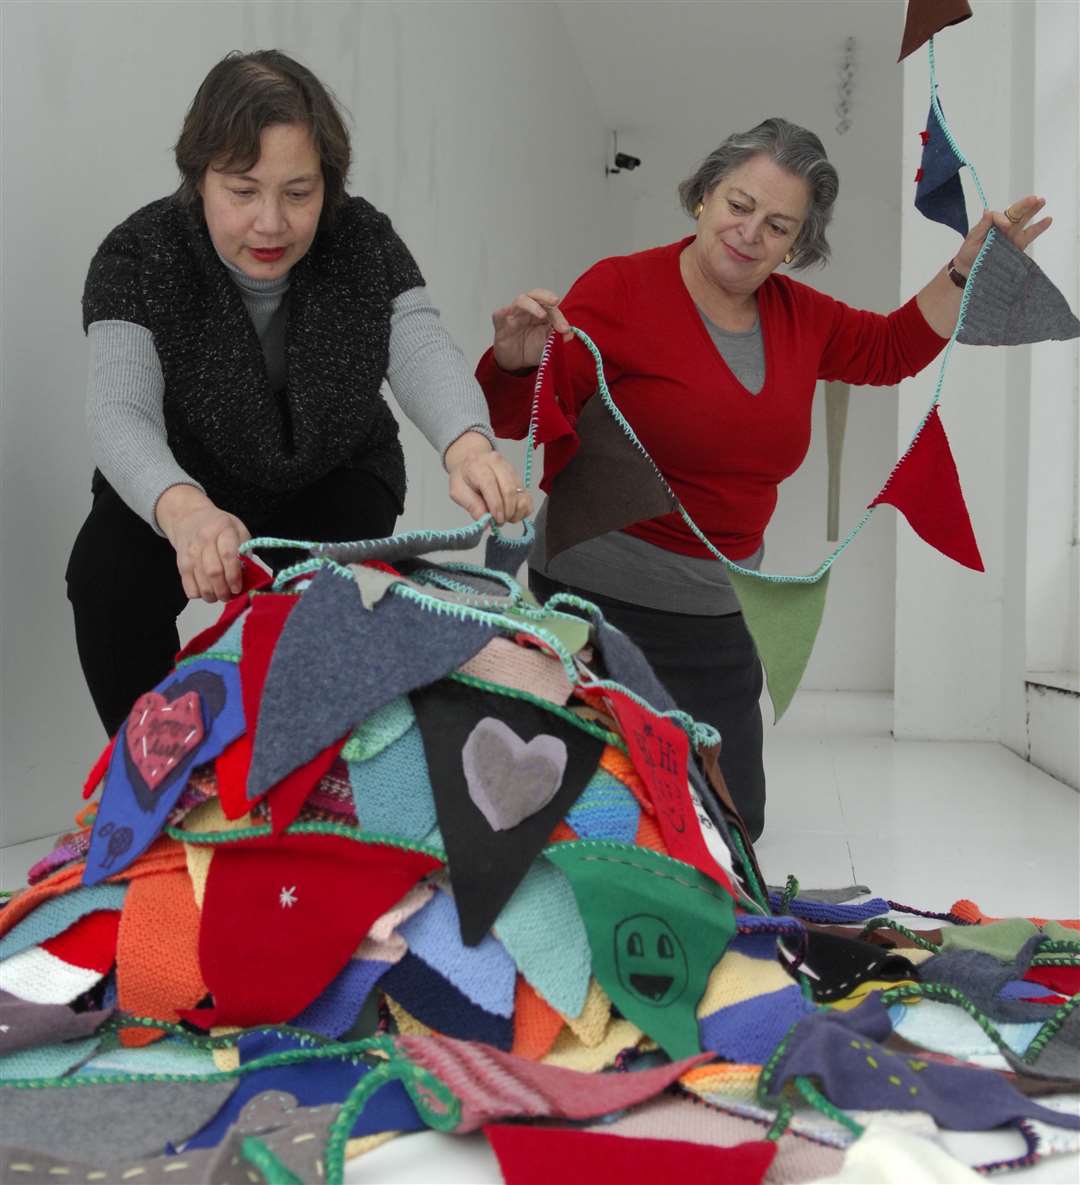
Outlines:
[[539,601],[575,592],[592,601],[605,620],[637,642],[676,704],[721,735],[720,768],[752,839],[765,830],[765,768],[761,763],[763,675],[741,613],[707,617],[665,613],[570,588],[529,569]]

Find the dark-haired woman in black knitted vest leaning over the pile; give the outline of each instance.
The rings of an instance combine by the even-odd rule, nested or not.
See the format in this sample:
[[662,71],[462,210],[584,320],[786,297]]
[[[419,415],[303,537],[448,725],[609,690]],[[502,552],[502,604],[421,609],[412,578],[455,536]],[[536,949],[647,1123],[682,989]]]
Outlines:
[[309,70],[230,53],[175,158],[179,190],[108,235],[83,294],[97,469],[68,595],[109,735],[168,672],[185,603],[241,590],[245,539],[392,532],[384,379],[454,501],[499,524],[530,510],[408,248],[346,194],[349,133]]

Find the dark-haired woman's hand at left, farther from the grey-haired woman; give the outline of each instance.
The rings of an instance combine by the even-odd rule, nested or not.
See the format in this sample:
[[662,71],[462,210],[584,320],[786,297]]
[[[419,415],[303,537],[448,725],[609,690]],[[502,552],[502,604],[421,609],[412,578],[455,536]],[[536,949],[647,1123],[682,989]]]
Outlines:
[[251,533],[235,514],[219,510],[194,486],[170,486],[154,515],[177,552],[188,600],[213,604],[243,590],[239,545]]

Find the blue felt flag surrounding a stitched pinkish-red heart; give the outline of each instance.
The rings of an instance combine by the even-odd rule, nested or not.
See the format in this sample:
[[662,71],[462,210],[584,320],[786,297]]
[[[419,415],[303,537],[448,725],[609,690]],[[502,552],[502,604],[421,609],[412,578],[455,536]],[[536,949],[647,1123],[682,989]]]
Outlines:
[[140,773],[132,760],[128,743],[128,735],[140,726],[146,707],[135,705],[133,715],[120,728],[109,762],[101,805],[94,820],[84,884],[97,884],[115,876],[141,856],[160,832],[184,790],[192,767],[212,761],[244,730],[239,675],[235,662],[198,660],[174,671],[158,684],[153,693],[167,704],[183,702],[193,694],[202,712],[203,739],[196,749],[186,751],[160,781],[148,784],[143,774],[148,773],[149,767]]

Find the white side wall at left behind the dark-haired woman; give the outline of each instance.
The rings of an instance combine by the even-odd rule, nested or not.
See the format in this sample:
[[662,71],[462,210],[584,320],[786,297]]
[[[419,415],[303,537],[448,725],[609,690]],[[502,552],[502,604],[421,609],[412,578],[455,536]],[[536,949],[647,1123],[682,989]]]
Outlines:
[[[307,62],[354,118],[353,192],[395,219],[467,356],[543,274],[567,283],[628,222],[551,5],[9,4],[2,39],[0,845],[65,827],[103,743],[63,572],[89,508],[79,297],[107,231],[175,185],[171,145],[230,49]],[[461,525],[405,430],[405,525]]]

